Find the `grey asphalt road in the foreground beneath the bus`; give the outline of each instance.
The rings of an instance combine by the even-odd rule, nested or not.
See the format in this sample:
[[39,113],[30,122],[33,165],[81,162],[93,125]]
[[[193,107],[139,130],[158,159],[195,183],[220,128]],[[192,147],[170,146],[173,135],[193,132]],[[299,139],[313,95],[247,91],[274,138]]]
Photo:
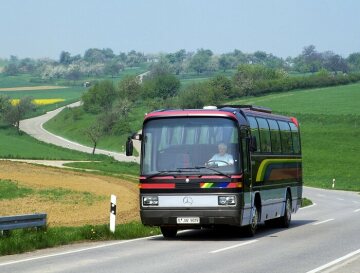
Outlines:
[[360,272],[360,195],[305,188],[304,196],[316,205],[294,214],[289,229],[78,244],[0,257],[0,272]]

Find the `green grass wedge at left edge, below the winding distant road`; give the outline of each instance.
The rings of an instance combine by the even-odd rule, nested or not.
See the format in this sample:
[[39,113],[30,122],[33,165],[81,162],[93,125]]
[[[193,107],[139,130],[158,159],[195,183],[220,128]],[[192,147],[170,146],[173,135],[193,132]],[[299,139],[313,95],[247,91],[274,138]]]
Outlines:
[[38,141],[9,126],[0,126],[0,158],[47,160],[106,160],[105,155],[92,155]]

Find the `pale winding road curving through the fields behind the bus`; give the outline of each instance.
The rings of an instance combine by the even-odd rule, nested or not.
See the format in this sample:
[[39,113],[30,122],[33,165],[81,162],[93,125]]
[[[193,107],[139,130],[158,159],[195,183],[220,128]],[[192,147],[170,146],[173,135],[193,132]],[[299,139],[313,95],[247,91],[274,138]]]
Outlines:
[[[70,105],[67,105],[64,107],[77,107],[79,105],[80,105],[80,102],[75,102],[73,104],[70,104]],[[30,135],[40,141],[43,141],[43,142],[51,143],[51,144],[54,144],[57,146],[61,146],[64,148],[77,150],[77,151],[81,151],[81,152],[85,152],[85,153],[92,153],[92,150],[93,150],[92,147],[87,147],[82,144],[79,144],[79,143],[67,140],[65,138],[62,138],[60,136],[54,135],[54,134],[46,131],[43,128],[43,124],[45,122],[47,122],[48,120],[50,120],[51,118],[53,118],[54,116],[56,116],[58,113],[60,113],[64,109],[64,107],[58,108],[54,111],[47,112],[46,114],[44,114],[42,116],[22,120],[20,122],[20,129],[22,131],[24,131],[25,133],[27,133],[28,135]],[[137,145],[138,143],[135,143],[135,144]],[[123,143],[123,144],[119,143],[119,145],[125,145],[125,143]],[[102,149],[96,149],[95,153],[112,156],[118,161],[139,162],[139,158],[133,157],[133,156],[127,157],[123,153],[116,153],[116,152],[106,151],[106,150],[102,150]]]

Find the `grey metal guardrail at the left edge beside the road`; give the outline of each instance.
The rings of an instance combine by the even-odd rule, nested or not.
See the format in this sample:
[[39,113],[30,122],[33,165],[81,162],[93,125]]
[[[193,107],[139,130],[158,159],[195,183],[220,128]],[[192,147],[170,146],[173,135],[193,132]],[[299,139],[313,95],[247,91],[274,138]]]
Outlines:
[[6,234],[13,229],[42,228],[46,226],[46,217],[46,213],[2,216],[0,232]]

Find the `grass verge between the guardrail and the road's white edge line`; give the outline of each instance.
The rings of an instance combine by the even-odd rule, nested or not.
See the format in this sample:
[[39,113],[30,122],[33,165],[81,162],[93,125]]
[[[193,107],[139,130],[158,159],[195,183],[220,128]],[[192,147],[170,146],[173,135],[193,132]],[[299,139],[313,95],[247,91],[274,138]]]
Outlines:
[[115,233],[107,225],[83,227],[47,227],[44,230],[14,230],[9,236],[0,237],[0,255],[10,255],[61,246],[71,243],[128,240],[160,234],[160,229],[144,227],[139,222],[116,225]]

